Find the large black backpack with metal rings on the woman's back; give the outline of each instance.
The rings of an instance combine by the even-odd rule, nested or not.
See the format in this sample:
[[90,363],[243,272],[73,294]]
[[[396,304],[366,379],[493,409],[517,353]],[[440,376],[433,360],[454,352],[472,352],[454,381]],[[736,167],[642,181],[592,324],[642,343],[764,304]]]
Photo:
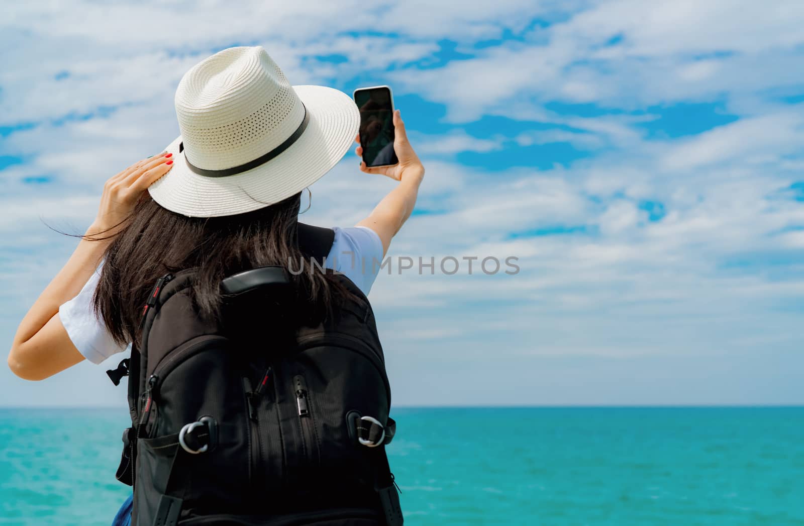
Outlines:
[[[333,235],[299,224],[318,261]],[[336,274],[352,298],[308,327],[283,309],[287,270],[251,269],[224,279],[224,323],[207,323],[194,275],[158,280],[142,348],[109,371],[116,384],[130,375],[116,476],[133,486],[131,524],[402,524],[384,447],[391,391],[363,293]]]

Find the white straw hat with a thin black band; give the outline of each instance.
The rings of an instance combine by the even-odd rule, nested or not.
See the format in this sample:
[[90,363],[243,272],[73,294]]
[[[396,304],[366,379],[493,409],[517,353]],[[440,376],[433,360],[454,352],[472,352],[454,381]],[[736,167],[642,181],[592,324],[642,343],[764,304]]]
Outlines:
[[231,216],[310,186],[343,158],[360,114],[346,93],[291,86],[261,46],[196,64],[176,89],[174,167],[149,187],[184,216]]

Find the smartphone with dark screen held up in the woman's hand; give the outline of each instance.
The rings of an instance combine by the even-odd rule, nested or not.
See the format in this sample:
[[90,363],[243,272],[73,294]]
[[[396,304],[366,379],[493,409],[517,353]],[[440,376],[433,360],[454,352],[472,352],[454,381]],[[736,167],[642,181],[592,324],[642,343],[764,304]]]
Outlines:
[[360,110],[360,146],[366,166],[392,166],[394,151],[394,97],[388,86],[355,89]]

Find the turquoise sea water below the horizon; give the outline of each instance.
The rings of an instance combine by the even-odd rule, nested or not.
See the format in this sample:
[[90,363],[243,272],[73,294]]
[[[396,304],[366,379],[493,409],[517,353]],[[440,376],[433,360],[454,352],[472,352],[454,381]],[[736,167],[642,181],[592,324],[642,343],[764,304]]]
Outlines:
[[[406,524],[804,524],[804,408],[393,417]],[[126,418],[0,410],[0,524],[109,524]]]

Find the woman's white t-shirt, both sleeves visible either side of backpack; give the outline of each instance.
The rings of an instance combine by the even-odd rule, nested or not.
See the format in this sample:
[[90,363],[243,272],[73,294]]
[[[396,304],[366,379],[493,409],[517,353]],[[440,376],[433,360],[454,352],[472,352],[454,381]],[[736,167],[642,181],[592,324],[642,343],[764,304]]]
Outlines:
[[[334,227],[333,230],[335,237],[326,257],[326,268],[345,274],[363,294],[368,295],[379,272],[379,261],[383,259],[383,242],[367,227]],[[59,318],[73,345],[93,364],[100,364],[128,348],[114,343],[105,324],[92,311],[92,296],[100,279],[100,268],[75,298],[59,307]]]

